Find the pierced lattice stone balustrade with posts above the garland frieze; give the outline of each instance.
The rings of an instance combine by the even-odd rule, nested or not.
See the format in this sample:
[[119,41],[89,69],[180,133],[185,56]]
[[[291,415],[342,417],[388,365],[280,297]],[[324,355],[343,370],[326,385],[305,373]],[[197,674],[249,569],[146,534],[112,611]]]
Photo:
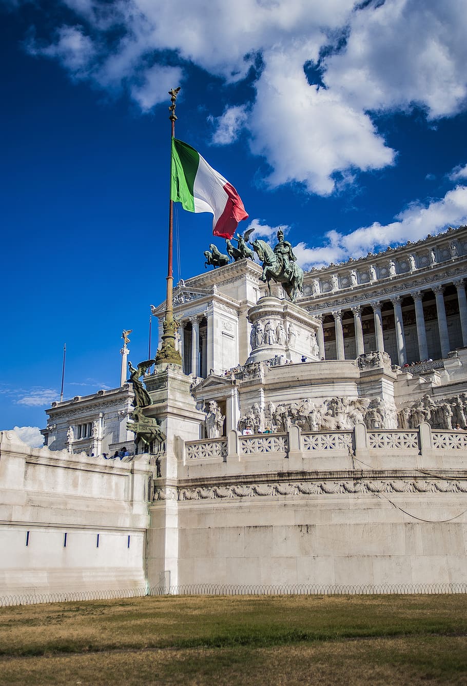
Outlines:
[[180,441],[180,445],[184,445],[180,458],[183,456],[185,464],[191,460],[203,462],[215,458],[228,462],[272,456],[279,460],[291,458],[287,469],[296,469],[302,458],[329,456],[335,456],[338,460],[350,456],[360,458],[363,462],[373,456],[381,464],[385,453],[394,460],[398,454],[433,456],[438,451],[464,450],[467,458],[467,431],[431,429],[427,423],[410,430],[367,429],[365,425],[357,424],[354,429],[347,431],[302,432],[299,427],[291,426],[287,433],[282,434],[243,436],[238,431],[229,431],[226,437],[193,440],[184,444]]

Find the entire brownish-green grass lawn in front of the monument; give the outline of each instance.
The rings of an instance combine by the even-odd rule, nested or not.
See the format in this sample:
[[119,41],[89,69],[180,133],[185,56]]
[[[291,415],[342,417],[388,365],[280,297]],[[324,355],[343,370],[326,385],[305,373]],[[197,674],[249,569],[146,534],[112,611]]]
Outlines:
[[0,684],[467,683],[467,595],[149,597],[0,609]]

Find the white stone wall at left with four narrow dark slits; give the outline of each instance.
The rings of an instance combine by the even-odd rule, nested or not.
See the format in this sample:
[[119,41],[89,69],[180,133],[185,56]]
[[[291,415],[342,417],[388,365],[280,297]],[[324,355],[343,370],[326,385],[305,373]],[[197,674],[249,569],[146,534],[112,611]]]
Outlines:
[[144,588],[145,460],[32,449],[2,431],[0,595]]

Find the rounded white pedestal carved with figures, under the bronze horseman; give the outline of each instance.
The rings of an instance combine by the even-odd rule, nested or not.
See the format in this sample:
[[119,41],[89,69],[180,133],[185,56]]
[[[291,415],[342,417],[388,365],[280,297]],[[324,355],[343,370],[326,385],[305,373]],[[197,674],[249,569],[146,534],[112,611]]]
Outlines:
[[302,307],[266,296],[248,309],[252,325],[250,356],[246,364],[283,357],[291,362],[320,359],[317,332],[320,322]]

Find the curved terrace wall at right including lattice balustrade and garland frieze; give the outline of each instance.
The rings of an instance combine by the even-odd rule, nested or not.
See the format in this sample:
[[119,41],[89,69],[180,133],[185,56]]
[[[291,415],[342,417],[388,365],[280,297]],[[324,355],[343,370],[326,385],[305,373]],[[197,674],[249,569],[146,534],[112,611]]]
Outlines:
[[160,482],[150,508],[152,582],[164,570],[174,585],[466,584],[466,435],[352,434],[185,446],[178,495]]

